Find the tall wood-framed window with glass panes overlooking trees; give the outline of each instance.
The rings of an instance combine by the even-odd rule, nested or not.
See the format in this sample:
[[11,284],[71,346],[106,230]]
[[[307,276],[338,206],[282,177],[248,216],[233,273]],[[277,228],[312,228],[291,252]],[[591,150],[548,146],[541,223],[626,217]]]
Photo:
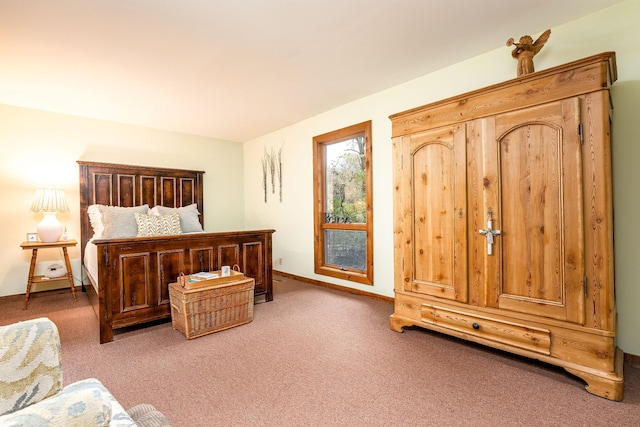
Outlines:
[[315,272],[373,284],[371,121],[313,138]]

